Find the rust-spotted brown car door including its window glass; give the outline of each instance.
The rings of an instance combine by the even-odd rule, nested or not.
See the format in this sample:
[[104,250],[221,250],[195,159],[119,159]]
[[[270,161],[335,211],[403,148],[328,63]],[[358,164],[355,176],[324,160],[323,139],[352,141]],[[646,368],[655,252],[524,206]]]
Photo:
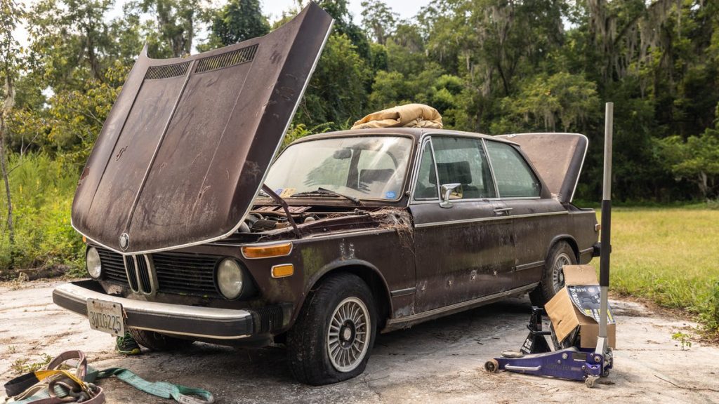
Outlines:
[[[429,311],[509,287],[511,221],[503,219],[482,139],[434,135],[421,147],[410,211],[414,220],[416,311]],[[462,192],[442,206],[441,185]]]

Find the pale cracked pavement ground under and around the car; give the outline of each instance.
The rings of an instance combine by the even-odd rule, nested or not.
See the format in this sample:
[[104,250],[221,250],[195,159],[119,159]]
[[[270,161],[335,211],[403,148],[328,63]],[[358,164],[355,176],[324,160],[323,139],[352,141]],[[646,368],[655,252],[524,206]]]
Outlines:
[[[487,359],[518,349],[530,305],[518,298],[380,335],[363,375],[324,387],[295,382],[280,347],[239,349],[194,344],[187,352],[115,354],[114,339],[52,303],[59,283],[0,284],[0,382],[19,359],[81,349],[91,366],[127,367],[147,380],[203,387],[217,403],[719,403],[719,347],[672,334],[696,324],[611,300],[618,321],[615,368],[595,389],[582,382],[508,372],[488,374]],[[172,403],[103,380],[109,403]]]

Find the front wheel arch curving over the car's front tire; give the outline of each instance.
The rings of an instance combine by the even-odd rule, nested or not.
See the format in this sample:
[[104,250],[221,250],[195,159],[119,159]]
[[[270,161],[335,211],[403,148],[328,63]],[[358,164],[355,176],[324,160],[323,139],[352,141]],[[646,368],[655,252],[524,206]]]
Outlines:
[[377,325],[382,329],[385,326],[385,321],[389,318],[390,313],[392,313],[392,300],[390,299],[390,290],[385,278],[380,273],[380,270],[378,270],[375,265],[370,264],[370,262],[364,260],[335,260],[330,262],[311,277],[310,282],[308,282],[308,288],[305,290],[305,296],[309,295],[311,290],[319,286],[326,277],[340,272],[349,272],[357,275],[370,287],[377,305]]

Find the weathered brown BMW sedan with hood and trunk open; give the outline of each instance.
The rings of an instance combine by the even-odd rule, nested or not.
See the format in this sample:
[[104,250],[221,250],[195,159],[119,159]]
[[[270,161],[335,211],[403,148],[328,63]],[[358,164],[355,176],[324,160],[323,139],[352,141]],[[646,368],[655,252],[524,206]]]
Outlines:
[[277,152],[331,29],[142,52],[78,184],[91,280],[55,303],[149,349],[286,344],[298,380],[365,369],[377,331],[530,293],[597,253],[572,205],[587,139],[364,129]]

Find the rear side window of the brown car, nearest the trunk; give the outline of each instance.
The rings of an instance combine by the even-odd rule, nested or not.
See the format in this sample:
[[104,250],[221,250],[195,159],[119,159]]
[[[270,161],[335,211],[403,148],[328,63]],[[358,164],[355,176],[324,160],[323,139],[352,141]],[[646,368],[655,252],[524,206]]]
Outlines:
[[487,141],[487,153],[500,198],[539,196],[541,185],[522,155],[510,144]]

